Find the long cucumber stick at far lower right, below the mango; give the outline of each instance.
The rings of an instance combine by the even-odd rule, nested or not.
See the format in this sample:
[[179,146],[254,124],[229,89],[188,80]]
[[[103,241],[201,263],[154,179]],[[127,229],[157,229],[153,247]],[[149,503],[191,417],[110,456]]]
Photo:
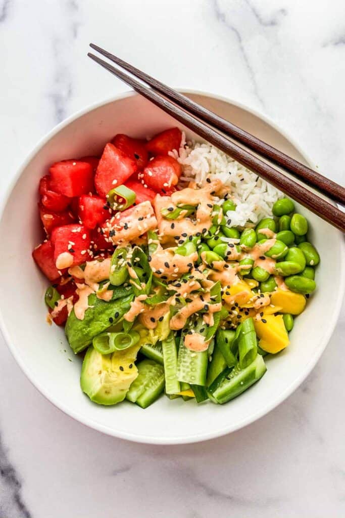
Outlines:
[[[222,372],[218,377],[219,379],[216,378],[209,387],[208,396],[212,401],[222,405],[242,394],[253,383],[260,380],[266,370],[263,357],[258,354],[254,361],[245,369],[241,369],[239,364],[237,364],[233,369],[228,369],[228,372],[227,369]],[[217,384],[218,386],[216,386]]]

